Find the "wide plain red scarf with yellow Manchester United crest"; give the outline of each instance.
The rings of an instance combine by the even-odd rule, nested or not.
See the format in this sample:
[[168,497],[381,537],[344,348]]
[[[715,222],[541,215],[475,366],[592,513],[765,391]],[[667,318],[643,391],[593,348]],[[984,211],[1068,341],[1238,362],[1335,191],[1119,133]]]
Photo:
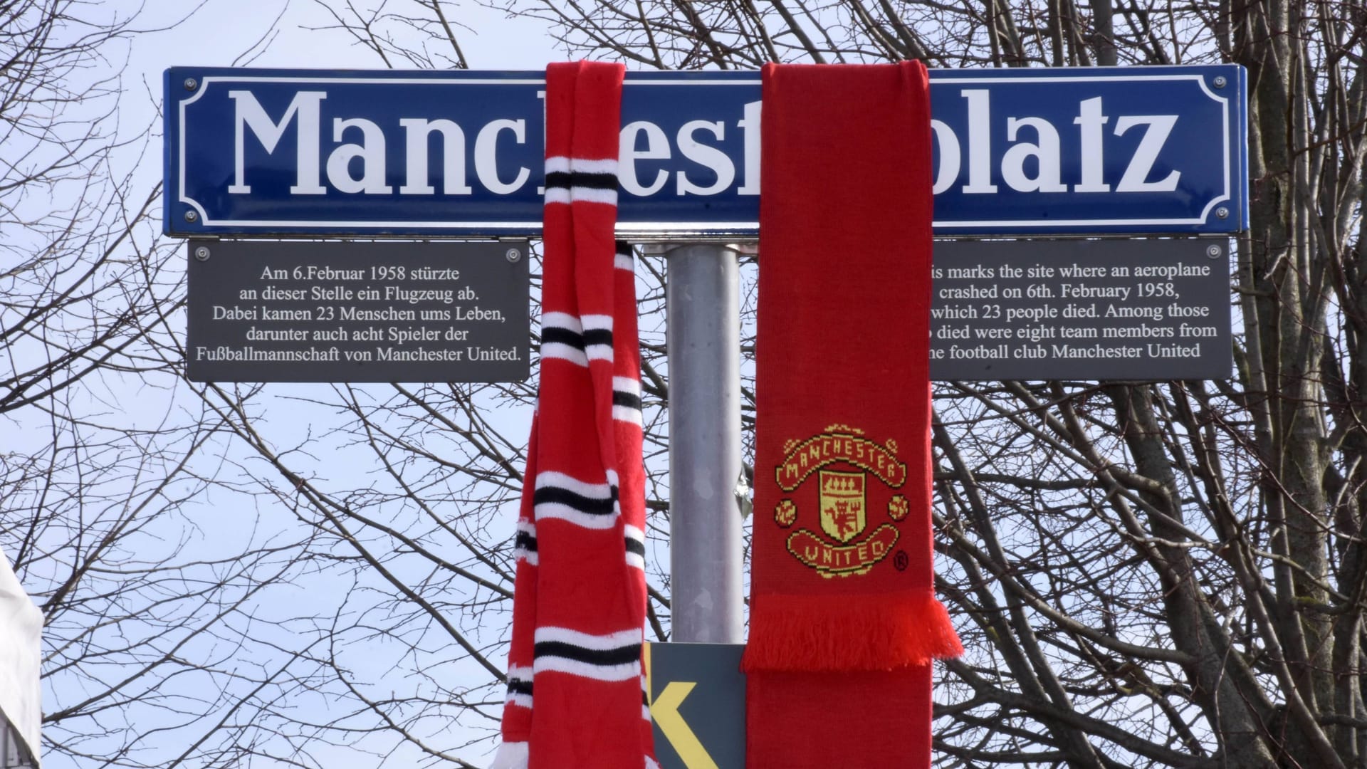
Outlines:
[[925,67],[770,64],[761,131],[748,766],[928,766]]

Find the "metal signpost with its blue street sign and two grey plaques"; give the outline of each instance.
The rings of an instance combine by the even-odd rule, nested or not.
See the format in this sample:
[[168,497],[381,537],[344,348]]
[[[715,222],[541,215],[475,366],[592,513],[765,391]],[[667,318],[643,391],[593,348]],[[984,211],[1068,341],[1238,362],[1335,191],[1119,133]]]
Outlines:
[[[936,244],[932,378],[1229,374],[1229,237],[1248,226],[1241,67],[930,78],[935,235],[1028,238]],[[738,647],[726,644],[744,640],[737,250],[727,244],[759,231],[760,105],[753,71],[627,73],[622,90],[618,235],[668,257],[674,640],[707,642],[696,658],[662,644],[652,654],[681,661],[685,677],[716,660],[734,670],[725,660]],[[191,376],[525,378],[526,259],[504,255],[526,245],[446,241],[540,234],[544,127],[539,71],[168,70],[165,231],[230,238],[190,246]],[[887,137],[887,152],[899,151]],[[1181,238],[1035,239],[1146,234]],[[834,249],[831,261],[841,267]],[[436,272],[403,283],[399,267]],[[447,268],[461,276],[443,279]],[[334,281],[327,270],[358,276]],[[406,309],[385,294],[396,290],[421,293],[407,308],[416,316],[372,316]],[[470,294],[448,304],[447,290]],[[472,316],[476,301],[503,320]],[[323,360],[334,349],[346,360]],[[391,352],[381,360],[381,350]],[[651,688],[668,740],[662,765],[738,765],[712,747],[697,753],[707,742],[730,755],[744,739],[689,727],[694,686]],[[712,722],[704,716],[696,722]]]

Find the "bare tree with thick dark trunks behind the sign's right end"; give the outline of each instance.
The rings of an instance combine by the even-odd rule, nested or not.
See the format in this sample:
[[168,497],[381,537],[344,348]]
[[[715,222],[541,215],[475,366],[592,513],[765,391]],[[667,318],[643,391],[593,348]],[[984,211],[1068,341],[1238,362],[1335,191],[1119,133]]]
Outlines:
[[[513,3],[651,67],[1248,68],[1228,380],[938,389],[946,766],[1359,766],[1363,7]],[[760,255],[763,259],[763,255]]]

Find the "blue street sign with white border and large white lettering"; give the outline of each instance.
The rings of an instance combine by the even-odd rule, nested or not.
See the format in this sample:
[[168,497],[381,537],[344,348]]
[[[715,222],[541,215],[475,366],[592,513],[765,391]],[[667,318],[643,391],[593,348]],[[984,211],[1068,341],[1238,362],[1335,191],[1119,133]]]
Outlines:
[[[1234,233],[1237,66],[932,70],[936,235]],[[759,73],[627,73],[618,222],[753,237]],[[176,67],[171,235],[534,235],[541,73]],[[889,137],[886,152],[898,152]]]

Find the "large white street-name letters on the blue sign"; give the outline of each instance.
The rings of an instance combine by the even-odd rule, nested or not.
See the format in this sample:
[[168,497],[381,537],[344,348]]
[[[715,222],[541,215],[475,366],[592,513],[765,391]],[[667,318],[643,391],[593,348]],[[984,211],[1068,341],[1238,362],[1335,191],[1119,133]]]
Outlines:
[[[935,194],[956,186],[965,194],[995,194],[1002,185],[1018,193],[1170,193],[1177,189],[1181,171],[1165,168],[1159,157],[1178,115],[1107,115],[1102,97],[1096,96],[1077,101],[1072,119],[1076,127],[1061,127],[1038,115],[1005,115],[998,118],[1001,123],[994,123],[991,93],[975,88],[958,92],[966,118],[961,133],[956,133],[950,122],[931,120],[939,155]],[[472,171],[483,189],[499,196],[525,189],[532,178],[526,166],[515,170],[506,163],[499,166],[500,146],[525,145],[529,140],[528,120],[522,118],[492,119],[476,130],[476,126],[443,118],[398,118],[391,129],[365,118],[338,116],[331,118],[331,131],[324,135],[323,105],[328,97],[324,90],[294,93],[279,118],[272,118],[250,90],[230,90],[228,97],[234,103],[234,177],[227,189],[231,194],[252,193],[245,160],[247,135],[254,137],[267,155],[284,152],[288,156],[280,142],[291,127],[295,175],[290,194],[327,194],[329,189],[349,194],[394,194],[385,167],[385,146],[391,141],[403,146],[403,181],[396,187],[401,196],[473,194]],[[627,123],[621,130],[618,146],[622,190],[637,197],[759,194],[760,115],[761,103],[750,101],[734,122],[689,120],[673,137],[649,120]],[[730,134],[729,129],[733,129]],[[1002,137],[1006,146],[994,148],[994,138],[1001,142]],[[1106,155],[1117,152],[1113,137],[1128,137],[1120,145],[1121,152],[1133,148],[1118,179],[1105,178]],[[331,138],[331,148],[324,146],[327,138]],[[1072,185],[1064,181],[1065,159],[1069,167],[1077,168]],[[440,190],[433,185],[433,171],[440,174]],[[1161,178],[1152,178],[1155,175]],[[673,189],[667,189],[671,178]]]

